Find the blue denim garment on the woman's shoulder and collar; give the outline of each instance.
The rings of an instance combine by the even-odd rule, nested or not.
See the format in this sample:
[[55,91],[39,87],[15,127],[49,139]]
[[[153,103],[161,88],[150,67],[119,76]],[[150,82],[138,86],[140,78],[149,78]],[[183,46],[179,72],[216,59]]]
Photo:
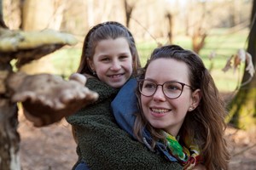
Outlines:
[[[136,116],[134,113],[138,112],[138,101],[136,96],[137,80],[132,78],[126,82],[125,85],[119,90],[119,94],[113,99],[111,107],[113,110],[113,116],[115,117],[119,126],[136,139],[133,134],[133,126]],[[155,150],[151,148],[152,138],[147,129],[143,131],[143,143],[149,150],[163,154],[169,161],[177,161],[175,157],[170,155],[165,144],[160,142],[156,143]]]

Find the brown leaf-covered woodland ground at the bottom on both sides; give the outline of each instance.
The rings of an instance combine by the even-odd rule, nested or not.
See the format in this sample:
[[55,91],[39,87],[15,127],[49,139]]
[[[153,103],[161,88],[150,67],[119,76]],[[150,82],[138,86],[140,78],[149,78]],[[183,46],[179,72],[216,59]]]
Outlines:
[[[22,170],[68,170],[77,160],[71,127],[63,120],[49,127],[33,127],[19,114]],[[230,170],[256,170],[256,130],[226,129],[232,159]]]

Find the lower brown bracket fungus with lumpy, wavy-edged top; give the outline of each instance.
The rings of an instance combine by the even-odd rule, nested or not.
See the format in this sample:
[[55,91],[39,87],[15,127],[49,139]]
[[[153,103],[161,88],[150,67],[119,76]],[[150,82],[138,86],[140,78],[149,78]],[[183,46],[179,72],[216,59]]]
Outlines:
[[43,127],[98,99],[98,94],[84,86],[85,82],[86,78],[79,73],[74,73],[66,81],[50,74],[17,72],[9,77],[7,87],[11,100],[22,103],[26,118],[35,127]]

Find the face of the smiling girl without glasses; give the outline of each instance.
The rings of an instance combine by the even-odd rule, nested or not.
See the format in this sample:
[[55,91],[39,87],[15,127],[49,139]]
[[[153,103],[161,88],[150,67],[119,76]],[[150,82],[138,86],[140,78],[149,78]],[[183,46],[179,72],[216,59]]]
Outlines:
[[132,73],[132,56],[126,39],[119,37],[98,42],[90,68],[109,86],[123,86]]

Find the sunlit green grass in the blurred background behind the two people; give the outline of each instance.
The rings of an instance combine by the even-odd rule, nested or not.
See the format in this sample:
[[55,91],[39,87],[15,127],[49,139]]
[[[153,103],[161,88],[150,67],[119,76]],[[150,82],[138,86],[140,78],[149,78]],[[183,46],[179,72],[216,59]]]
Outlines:
[[[232,54],[236,54],[239,48],[246,48],[247,30],[229,33],[225,29],[216,29],[209,32],[206,44],[201,49],[200,55],[207,69],[211,70],[212,77],[220,91],[231,92],[236,89],[237,82],[242,76],[243,65],[238,71],[224,72],[222,69],[227,59]],[[164,42],[162,42],[164,44]],[[191,40],[189,37],[177,36],[174,42],[183,48],[191,49]],[[148,56],[157,43],[152,41],[138,42],[137,49],[140,55],[142,65],[145,65]],[[210,60],[208,56],[214,52],[216,56]],[[51,60],[56,69],[56,74],[68,77],[72,72],[76,71],[79,65],[81,48],[63,48],[52,54]]]

